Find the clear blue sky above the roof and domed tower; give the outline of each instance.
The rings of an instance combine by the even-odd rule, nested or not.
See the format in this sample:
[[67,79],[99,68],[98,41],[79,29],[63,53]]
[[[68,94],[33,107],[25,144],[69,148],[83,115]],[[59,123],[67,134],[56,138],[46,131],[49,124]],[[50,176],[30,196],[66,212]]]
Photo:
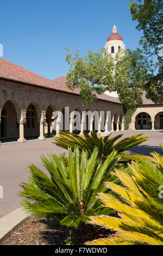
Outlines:
[[66,75],[64,47],[104,47],[114,24],[126,45],[139,46],[129,0],[0,0],[0,44],[4,59],[49,79]]

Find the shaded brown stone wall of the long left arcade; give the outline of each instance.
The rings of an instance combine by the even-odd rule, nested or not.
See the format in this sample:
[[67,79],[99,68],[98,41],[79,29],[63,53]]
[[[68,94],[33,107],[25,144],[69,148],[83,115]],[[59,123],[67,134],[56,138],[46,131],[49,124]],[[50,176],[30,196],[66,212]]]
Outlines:
[[114,117],[115,113],[117,113],[117,116],[121,115],[123,117],[123,107],[118,103],[98,100],[96,102],[92,102],[89,106],[83,106],[82,98],[79,95],[0,80],[0,112],[7,101],[9,102],[9,105],[7,106],[8,138],[18,137],[19,129],[16,127],[16,117],[19,123],[22,111],[27,111],[30,103],[33,103],[35,106],[37,120],[35,128],[29,129],[27,124],[24,125],[25,137],[39,136],[41,114],[42,112],[46,113],[49,106],[51,106],[53,112],[57,110],[62,111],[62,109],[67,106],[70,108],[70,112],[75,109],[78,109],[80,112],[89,109],[93,112],[98,109],[98,111],[105,111],[105,113],[106,111],[110,111],[111,119]]

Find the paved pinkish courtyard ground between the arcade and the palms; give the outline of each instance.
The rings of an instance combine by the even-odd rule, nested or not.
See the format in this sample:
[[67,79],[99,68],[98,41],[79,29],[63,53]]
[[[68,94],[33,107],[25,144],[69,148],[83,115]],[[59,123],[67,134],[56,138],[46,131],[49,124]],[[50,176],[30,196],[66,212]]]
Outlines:
[[[124,133],[123,137],[128,137],[140,131],[113,132],[111,136],[120,133]],[[154,150],[161,153],[159,143],[163,142],[163,131],[143,131],[143,134],[149,135],[148,141],[131,149],[131,153],[149,155]],[[47,139],[0,146],[0,185],[3,186],[4,191],[4,198],[0,199],[0,217],[20,207],[21,198],[17,193],[21,190],[20,182],[28,181],[29,164],[34,163],[45,170],[40,155],[47,156],[48,153],[60,154],[66,151],[55,146],[52,141],[53,139]]]

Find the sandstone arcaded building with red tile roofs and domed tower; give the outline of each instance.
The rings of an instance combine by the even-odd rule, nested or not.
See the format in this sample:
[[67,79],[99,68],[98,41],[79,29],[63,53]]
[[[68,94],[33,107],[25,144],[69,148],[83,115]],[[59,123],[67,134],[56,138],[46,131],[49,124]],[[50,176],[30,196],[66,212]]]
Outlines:
[[[120,48],[125,49],[121,35],[117,34],[116,27],[109,36],[105,47],[108,52],[115,54]],[[79,90],[73,92],[66,88],[66,76],[48,80],[45,77],[17,66],[8,60],[0,58],[0,141],[26,142],[27,138],[45,139],[52,136],[53,112],[65,114],[65,107],[70,113],[78,111],[81,115],[80,131],[83,123],[87,123],[87,131],[93,130],[93,118],[90,123],[82,111],[104,111],[104,127],[101,126],[99,115],[98,132],[124,130],[123,107],[116,92],[98,95],[98,100],[89,106],[82,105]],[[111,113],[109,128],[108,113]],[[69,118],[69,117],[68,117]],[[56,119],[60,123],[59,117]],[[73,115],[70,117],[70,131]],[[57,126],[59,129],[59,125]],[[155,105],[143,95],[143,105],[133,114],[130,130],[163,130],[163,105]],[[68,130],[68,129],[66,129]]]

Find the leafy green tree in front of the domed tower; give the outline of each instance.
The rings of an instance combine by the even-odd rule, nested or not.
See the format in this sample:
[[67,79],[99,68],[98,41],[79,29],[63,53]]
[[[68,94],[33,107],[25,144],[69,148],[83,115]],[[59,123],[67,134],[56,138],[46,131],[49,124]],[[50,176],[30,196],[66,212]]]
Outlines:
[[140,51],[121,50],[115,59],[105,49],[89,51],[85,57],[80,57],[78,51],[71,51],[68,47],[66,51],[67,63],[71,65],[66,85],[71,90],[80,89],[83,105],[97,100],[97,94],[105,91],[116,91],[122,105],[127,108],[135,108],[142,103],[141,95],[150,66]]

